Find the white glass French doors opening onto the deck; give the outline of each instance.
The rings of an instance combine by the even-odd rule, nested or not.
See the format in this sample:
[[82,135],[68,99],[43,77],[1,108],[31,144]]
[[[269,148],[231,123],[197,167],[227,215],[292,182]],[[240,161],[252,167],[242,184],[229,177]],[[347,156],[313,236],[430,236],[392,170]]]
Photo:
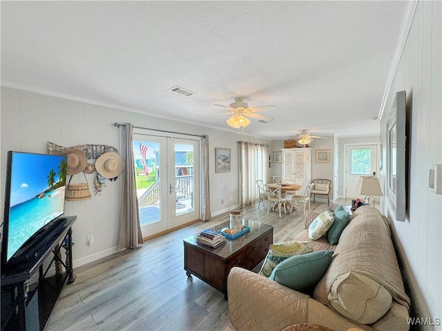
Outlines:
[[199,141],[134,134],[143,237],[200,218]]

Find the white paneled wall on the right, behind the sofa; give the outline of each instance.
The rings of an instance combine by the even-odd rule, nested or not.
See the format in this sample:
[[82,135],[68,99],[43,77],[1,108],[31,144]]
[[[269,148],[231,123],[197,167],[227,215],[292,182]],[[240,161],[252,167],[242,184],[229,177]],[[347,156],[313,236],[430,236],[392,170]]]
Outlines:
[[[428,167],[442,163],[441,17],[440,1],[419,2],[381,125],[386,146],[387,117],[396,92],[405,90],[410,111],[410,203],[405,222],[393,219],[392,228],[405,258],[407,280],[414,288],[413,314],[431,317],[436,330],[442,330],[442,195],[428,190]],[[385,179],[385,170],[381,175]],[[383,199],[384,214],[389,210]]]

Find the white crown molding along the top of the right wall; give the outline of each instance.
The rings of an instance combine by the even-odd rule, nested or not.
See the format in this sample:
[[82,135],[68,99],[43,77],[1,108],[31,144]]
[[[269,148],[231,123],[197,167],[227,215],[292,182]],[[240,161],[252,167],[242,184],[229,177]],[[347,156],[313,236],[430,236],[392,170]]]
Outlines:
[[405,4],[405,10],[402,17],[401,30],[399,30],[398,43],[396,45],[396,51],[394,52],[394,57],[390,65],[390,70],[388,72],[387,83],[385,84],[384,95],[382,98],[381,108],[379,109],[379,114],[377,119],[381,119],[385,106],[387,103],[388,95],[393,85],[394,77],[396,76],[396,70],[398,69],[399,61],[401,61],[401,56],[405,43],[407,42],[408,34],[412,27],[414,13],[416,12],[419,0],[410,0]]

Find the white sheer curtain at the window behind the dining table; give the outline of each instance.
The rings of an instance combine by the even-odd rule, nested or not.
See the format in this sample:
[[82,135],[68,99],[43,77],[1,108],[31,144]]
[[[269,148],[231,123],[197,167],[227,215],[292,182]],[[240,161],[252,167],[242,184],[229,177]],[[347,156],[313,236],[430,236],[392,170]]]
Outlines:
[[250,205],[259,199],[256,179],[267,183],[269,146],[238,141],[240,152],[240,205]]

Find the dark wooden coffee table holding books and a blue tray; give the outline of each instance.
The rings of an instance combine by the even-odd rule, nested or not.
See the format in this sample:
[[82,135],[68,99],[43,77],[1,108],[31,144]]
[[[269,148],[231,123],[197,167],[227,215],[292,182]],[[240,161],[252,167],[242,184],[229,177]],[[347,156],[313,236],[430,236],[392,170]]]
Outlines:
[[[227,238],[221,248],[212,250],[196,242],[197,234],[184,239],[184,270],[187,276],[195,275],[202,281],[224,293],[227,299],[227,276],[231,268],[252,270],[264,259],[273,243],[273,226],[242,219],[250,231],[236,239]],[[210,230],[221,230],[229,222]]]

